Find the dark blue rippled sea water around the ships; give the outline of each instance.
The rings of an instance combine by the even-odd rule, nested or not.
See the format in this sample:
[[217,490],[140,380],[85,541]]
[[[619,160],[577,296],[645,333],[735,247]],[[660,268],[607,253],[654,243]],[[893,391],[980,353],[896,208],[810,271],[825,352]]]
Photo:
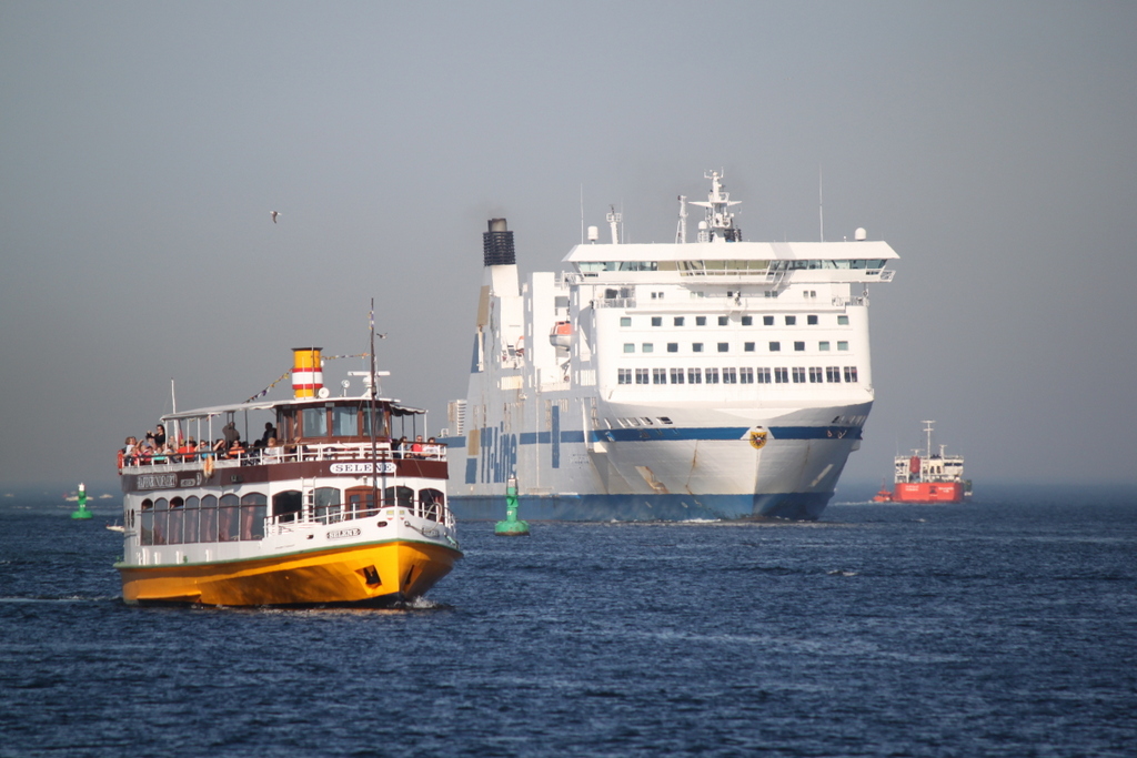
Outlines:
[[466,523],[402,610],[127,607],[73,508],[0,499],[3,757],[1137,755],[1132,490]]

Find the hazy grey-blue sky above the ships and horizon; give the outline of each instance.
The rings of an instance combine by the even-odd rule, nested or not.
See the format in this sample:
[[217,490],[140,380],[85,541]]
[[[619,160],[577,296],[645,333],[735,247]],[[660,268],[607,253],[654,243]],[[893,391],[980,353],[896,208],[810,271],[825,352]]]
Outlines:
[[363,352],[371,298],[437,431],[488,217],[554,269],[582,192],[669,241],[709,168],[748,240],[816,240],[820,173],[827,239],[902,256],[846,480],[930,418],[977,491],[1137,482],[1135,34],[1130,2],[8,0],[0,485],[114,481],[172,378],[185,409]]

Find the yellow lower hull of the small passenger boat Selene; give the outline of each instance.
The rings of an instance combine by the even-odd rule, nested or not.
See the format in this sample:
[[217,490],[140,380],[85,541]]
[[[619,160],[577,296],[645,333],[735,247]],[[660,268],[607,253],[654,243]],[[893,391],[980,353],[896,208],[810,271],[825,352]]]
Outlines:
[[210,606],[374,603],[417,598],[457,550],[422,542],[349,545],[267,558],[168,566],[118,564],[126,602]]

